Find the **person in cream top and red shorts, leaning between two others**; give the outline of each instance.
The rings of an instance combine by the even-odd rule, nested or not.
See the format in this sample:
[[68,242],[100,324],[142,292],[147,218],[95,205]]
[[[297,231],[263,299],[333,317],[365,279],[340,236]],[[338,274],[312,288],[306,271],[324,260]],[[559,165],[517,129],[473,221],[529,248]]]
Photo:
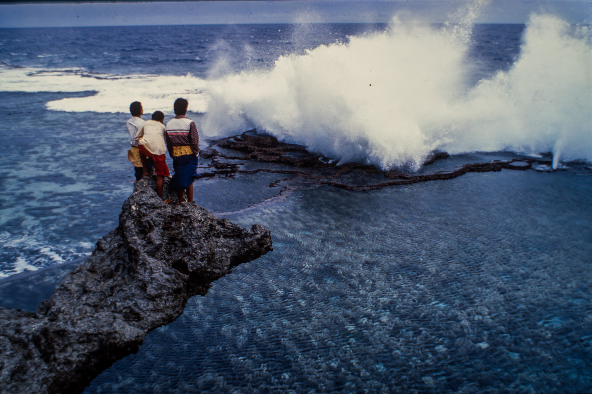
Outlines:
[[[166,128],[165,114],[156,111],[152,120],[146,121],[136,134],[136,141],[140,150],[140,157],[144,167],[142,176],[148,175],[147,159],[151,159],[156,168],[156,193],[162,198],[162,186],[165,176],[170,177],[169,167],[166,165]],[[147,158],[147,159],[146,159]]]

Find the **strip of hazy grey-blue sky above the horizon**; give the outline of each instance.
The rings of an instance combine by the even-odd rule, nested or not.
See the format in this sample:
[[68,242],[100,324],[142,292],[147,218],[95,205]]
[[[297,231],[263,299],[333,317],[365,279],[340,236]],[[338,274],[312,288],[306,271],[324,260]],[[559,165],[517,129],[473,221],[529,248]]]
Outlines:
[[[395,14],[444,22],[461,0],[282,0],[86,4],[2,4],[0,27],[388,22]],[[484,1],[480,1],[484,2]],[[570,22],[592,22],[590,0],[491,0],[477,22],[522,23],[530,12],[552,12]]]

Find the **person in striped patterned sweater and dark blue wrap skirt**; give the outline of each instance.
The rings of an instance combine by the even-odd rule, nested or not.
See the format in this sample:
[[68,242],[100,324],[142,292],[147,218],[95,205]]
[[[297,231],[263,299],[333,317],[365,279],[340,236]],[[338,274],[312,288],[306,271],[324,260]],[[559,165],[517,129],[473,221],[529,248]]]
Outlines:
[[179,204],[184,201],[183,193],[187,192],[187,202],[193,201],[193,181],[197,176],[197,158],[200,156],[200,136],[195,122],[185,117],[189,102],[184,98],[175,100],[175,118],[166,124],[166,145],[173,159],[175,175],[169,182],[169,188],[177,190]]

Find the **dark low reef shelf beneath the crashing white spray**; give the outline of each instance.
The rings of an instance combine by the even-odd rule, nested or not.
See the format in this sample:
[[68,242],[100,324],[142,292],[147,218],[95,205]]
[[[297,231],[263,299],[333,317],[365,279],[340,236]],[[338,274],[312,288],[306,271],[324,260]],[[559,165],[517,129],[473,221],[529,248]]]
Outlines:
[[[346,163],[337,164],[334,160],[310,153],[304,146],[281,143],[272,135],[258,133],[256,129],[245,131],[241,135],[211,141],[211,146],[202,152],[201,157],[211,159],[205,177],[233,177],[239,173],[280,173],[312,180],[318,185],[331,185],[349,190],[372,190],[385,186],[408,185],[429,180],[452,179],[469,172],[491,172],[508,170],[551,171],[552,160],[546,157],[514,157],[509,160],[492,160],[485,163],[466,163],[452,169],[426,173],[416,173],[405,169],[384,170],[372,164]],[[433,151],[423,162],[429,167],[436,160],[446,159],[450,155],[442,151]],[[283,164],[282,168],[244,169],[247,161]],[[237,163],[237,161],[240,161]],[[383,180],[366,177],[352,182],[347,175],[355,170],[367,175],[382,175]],[[276,181],[276,183],[281,180]],[[274,185],[278,186],[278,185]]]

